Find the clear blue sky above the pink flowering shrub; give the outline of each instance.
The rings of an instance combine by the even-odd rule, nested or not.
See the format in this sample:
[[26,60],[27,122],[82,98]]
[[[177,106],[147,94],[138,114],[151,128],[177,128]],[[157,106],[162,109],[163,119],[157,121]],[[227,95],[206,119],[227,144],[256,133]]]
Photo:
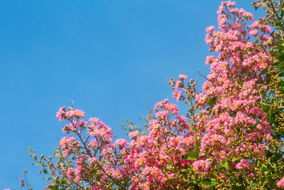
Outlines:
[[[236,5],[259,15],[251,2]],[[55,114],[68,100],[125,137],[121,122],[141,124],[148,105],[171,97],[167,78],[207,75],[205,28],[217,24],[219,4],[0,0],[0,189],[20,189],[23,169],[44,188],[28,147],[53,152],[62,137]]]

